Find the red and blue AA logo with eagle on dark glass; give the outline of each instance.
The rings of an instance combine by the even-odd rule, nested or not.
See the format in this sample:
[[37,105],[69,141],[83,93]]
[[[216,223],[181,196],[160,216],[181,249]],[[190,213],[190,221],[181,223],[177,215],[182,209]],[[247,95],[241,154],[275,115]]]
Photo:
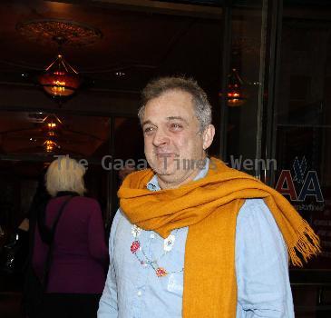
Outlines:
[[292,176],[290,170],[282,170],[279,175],[276,190],[280,194],[288,195],[291,201],[304,202],[307,197],[313,196],[316,202],[324,202],[316,171],[307,170],[305,157],[301,161],[296,157],[293,172]]

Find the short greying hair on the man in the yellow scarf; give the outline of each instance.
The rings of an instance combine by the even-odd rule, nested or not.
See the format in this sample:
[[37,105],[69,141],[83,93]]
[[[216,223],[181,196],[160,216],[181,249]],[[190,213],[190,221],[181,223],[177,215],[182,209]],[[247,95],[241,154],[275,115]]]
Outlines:
[[194,79],[182,76],[161,77],[146,85],[141,92],[141,108],[138,112],[141,124],[146,104],[170,90],[180,90],[192,95],[192,104],[202,133],[211,124],[211,105],[200,85]]

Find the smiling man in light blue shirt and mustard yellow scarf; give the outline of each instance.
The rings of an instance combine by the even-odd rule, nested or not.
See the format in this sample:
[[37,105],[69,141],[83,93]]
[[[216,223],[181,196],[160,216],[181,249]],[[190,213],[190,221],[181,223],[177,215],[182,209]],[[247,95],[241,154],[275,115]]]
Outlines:
[[[215,129],[193,80],[142,92],[151,169],[130,174],[112,224],[98,317],[294,317],[288,257],[318,238],[276,191],[206,151]],[[308,237],[308,238],[307,238]]]

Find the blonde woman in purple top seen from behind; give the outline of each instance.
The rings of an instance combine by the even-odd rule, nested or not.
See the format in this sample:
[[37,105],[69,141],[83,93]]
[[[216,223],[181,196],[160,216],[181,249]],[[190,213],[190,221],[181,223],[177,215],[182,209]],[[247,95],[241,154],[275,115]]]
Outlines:
[[38,218],[33,266],[44,286],[40,317],[96,317],[108,251],[98,202],[84,197],[82,164],[63,156],[45,175],[53,196]]

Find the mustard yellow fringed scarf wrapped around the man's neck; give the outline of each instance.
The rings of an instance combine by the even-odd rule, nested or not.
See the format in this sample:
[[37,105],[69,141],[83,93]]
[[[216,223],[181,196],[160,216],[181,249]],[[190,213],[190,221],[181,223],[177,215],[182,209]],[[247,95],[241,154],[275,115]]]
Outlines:
[[[213,169],[211,169],[211,167]],[[153,172],[130,174],[118,194],[131,224],[167,237],[189,226],[185,248],[182,315],[236,316],[235,237],[239,209],[246,199],[262,198],[287,243],[290,260],[302,265],[320,251],[319,239],[281,194],[258,179],[211,158],[205,178],[178,189],[146,189]]]

